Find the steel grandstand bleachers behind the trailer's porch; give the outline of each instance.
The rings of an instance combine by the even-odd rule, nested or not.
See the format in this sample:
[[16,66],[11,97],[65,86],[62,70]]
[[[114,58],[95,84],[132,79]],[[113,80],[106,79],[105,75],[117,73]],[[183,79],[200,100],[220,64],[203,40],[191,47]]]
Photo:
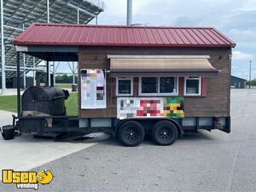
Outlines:
[[[87,24],[96,20],[104,10],[102,0],[0,0],[1,1],[1,84],[2,93],[6,90],[6,79],[16,76],[16,54],[14,39],[27,26],[35,22]],[[21,76],[26,87],[26,74],[45,71],[44,62],[32,56],[20,55]],[[52,73],[58,64],[50,63]],[[74,63],[68,63],[73,77],[76,72]],[[74,79],[74,78],[73,78]]]

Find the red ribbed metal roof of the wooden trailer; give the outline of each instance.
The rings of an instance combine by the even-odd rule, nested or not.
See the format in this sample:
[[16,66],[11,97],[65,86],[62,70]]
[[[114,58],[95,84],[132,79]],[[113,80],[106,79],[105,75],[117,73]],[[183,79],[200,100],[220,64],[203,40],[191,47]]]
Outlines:
[[235,47],[212,27],[32,24],[15,45]]

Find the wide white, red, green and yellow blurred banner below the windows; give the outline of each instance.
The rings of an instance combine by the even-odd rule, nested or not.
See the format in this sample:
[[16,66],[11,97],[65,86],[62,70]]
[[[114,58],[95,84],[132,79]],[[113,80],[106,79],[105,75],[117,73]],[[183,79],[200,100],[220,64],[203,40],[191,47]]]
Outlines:
[[183,97],[119,97],[118,119],[135,117],[183,118]]

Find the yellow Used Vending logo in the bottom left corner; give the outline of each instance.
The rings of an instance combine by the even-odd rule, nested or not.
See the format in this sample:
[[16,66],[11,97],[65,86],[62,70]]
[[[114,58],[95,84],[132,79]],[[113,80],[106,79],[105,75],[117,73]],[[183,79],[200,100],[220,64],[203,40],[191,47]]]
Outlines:
[[15,172],[3,170],[3,183],[16,184],[17,189],[38,189],[38,184],[49,184],[53,180],[52,172]]

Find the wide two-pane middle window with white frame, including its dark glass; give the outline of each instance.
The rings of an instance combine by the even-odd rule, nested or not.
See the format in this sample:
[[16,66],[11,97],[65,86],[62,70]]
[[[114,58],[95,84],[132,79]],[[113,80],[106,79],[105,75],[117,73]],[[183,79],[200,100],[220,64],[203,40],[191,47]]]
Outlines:
[[177,77],[141,77],[140,96],[176,96]]

